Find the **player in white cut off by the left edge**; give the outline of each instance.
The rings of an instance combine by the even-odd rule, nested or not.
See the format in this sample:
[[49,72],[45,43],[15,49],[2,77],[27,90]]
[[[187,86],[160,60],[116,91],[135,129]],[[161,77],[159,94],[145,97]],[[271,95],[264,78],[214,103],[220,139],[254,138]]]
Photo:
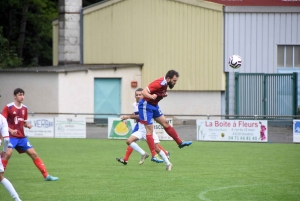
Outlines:
[[[7,121],[6,119],[0,114],[0,146],[1,146],[1,137],[3,136],[3,151],[0,154],[0,158],[6,153],[8,143],[9,143],[9,134],[8,134],[8,126],[7,126]],[[4,177],[4,167],[2,165],[2,162],[0,160],[0,183],[4,186],[4,188],[9,192],[11,197],[15,201],[21,201],[19,198],[18,193],[16,192],[15,188],[13,185],[10,183],[8,179]],[[3,200],[3,195],[0,196],[1,200]]]

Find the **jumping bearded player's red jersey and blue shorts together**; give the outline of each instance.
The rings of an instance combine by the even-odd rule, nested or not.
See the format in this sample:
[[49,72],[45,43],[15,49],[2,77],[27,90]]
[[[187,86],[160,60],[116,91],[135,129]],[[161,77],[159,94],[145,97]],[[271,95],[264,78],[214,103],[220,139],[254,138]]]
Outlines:
[[156,94],[157,98],[153,100],[144,97],[139,102],[139,118],[142,124],[153,124],[153,118],[157,118],[163,115],[158,106],[158,102],[164,98],[167,89],[168,84],[164,77],[154,80],[148,85],[148,92],[150,94]]

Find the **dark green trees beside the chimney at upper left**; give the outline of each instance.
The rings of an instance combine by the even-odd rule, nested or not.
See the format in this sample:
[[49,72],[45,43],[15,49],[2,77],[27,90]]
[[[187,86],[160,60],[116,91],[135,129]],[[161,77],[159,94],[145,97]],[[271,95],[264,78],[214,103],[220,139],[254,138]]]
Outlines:
[[[59,0],[0,1],[0,68],[51,66]],[[89,6],[103,0],[83,0]]]

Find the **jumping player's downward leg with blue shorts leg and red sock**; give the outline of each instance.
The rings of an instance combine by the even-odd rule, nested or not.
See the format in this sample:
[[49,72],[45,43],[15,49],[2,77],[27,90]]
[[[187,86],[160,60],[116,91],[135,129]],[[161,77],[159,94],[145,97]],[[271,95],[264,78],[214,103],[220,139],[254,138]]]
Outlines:
[[139,119],[142,124],[144,124],[146,128],[146,139],[148,147],[151,151],[152,158],[155,157],[155,144],[154,139],[152,136],[153,133],[153,107],[152,105],[148,104],[147,101],[141,100],[139,102]]

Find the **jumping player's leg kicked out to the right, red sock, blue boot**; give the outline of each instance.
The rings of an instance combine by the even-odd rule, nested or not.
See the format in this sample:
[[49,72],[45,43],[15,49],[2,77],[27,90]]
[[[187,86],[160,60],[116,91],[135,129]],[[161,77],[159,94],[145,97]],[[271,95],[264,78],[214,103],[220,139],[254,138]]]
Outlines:
[[159,114],[154,116],[155,121],[164,127],[166,133],[174,139],[179,148],[190,146],[192,144],[192,141],[182,141],[175,129],[169,124],[166,117],[161,112]]

